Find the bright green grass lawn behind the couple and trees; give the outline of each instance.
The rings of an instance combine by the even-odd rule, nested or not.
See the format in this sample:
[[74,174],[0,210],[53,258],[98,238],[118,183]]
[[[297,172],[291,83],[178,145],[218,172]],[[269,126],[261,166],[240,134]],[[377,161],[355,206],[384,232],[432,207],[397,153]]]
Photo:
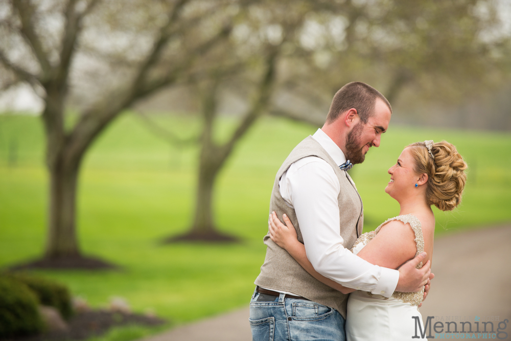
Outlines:
[[[183,136],[197,122],[161,116]],[[224,119],[218,139],[233,121]],[[112,296],[135,311],[153,309],[183,323],[247,305],[263,263],[267,214],[275,172],[291,149],[316,128],[264,118],[236,148],[215,193],[219,228],[239,244],[161,245],[187,230],[193,211],[197,148],[179,150],[130,115],[114,122],[86,155],[79,182],[78,234],[82,251],[121,265],[122,271],[42,271],[92,305]],[[395,216],[384,188],[387,169],[411,142],[445,139],[470,166],[459,209],[435,211],[436,234],[511,221],[511,134],[391,126],[353,178],[364,200],[365,229]],[[37,117],[0,115],[0,267],[41,255],[45,242],[48,174]]]

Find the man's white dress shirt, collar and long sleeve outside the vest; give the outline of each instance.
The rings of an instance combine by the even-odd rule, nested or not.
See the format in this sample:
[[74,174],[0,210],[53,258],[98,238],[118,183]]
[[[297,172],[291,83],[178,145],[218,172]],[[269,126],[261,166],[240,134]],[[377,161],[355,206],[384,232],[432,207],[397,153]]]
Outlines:
[[[342,150],[321,129],[313,138],[337,165],[346,162]],[[307,258],[316,271],[345,287],[392,295],[399,271],[370,264],[343,246],[337,200],[340,185],[332,166],[316,156],[301,158],[282,175],[278,186],[296,213]]]

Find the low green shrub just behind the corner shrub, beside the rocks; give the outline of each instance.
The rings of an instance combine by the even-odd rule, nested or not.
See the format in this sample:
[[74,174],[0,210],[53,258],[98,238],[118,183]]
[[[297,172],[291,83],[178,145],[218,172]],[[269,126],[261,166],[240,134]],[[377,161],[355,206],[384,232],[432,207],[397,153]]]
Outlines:
[[64,319],[68,320],[73,314],[71,294],[65,285],[22,272],[6,276],[27,285],[37,295],[40,304],[55,307]]

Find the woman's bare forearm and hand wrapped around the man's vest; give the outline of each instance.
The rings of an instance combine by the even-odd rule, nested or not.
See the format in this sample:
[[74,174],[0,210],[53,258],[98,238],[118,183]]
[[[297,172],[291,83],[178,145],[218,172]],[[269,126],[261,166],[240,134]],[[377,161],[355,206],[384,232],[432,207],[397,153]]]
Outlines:
[[284,215],[285,225],[278,220],[275,212],[269,217],[268,220],[268,229],[270,231],[270,238],[273,240],[278,246],[284,248],[290,255],[293,257],[298,264],[301,265],[309,274],[312,275],[315,279],[324,283],[342,293],[350,293],[355,291],[355,289],[346,288],[339,283],[332,281],[329,278],[320,275],[311,262],[307,258],[307,254],[305,252],[305,245],[298,241],[296,236],[296,230],[294,229],[293,224],[289,220],[287,215]]

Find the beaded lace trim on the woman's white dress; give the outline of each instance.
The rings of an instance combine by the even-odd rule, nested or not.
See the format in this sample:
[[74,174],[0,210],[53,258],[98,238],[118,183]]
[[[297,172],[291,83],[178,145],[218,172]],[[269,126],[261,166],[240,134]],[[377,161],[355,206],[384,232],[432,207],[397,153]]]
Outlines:
[[[376,236],[376,234],[378,232],[380,232],[383,225],[385,225],[386,223],[388,223],[389,221],[392,221],[392,220],[400,220],[405,224],[407,224],[407,223],[410,224],[413,232],[415,233],[415,243],[417,244],[417,252],[415,253],[415,257],[417,255],[421,254],[422,252],[424,252],[424,236],[422,234],[421,221],[419,219],[417,219],[417,217],[415,217],[414,215],[411,215],[411,214],[397,216],[397,217],[393,217],[393,218],[385,220],[380,226],[378,226],[378,228],[376,228],[375,231],[366,232],[363,235],[361,235],[357,239],[355,244],[353,245],[351,251],[353,252],[355,247],[360,243],[363,243],[364,245],[366,245],[371,239],[373,239]],[[422,262],[419,265],[417,265],[417,269],[420,269],[420,268],[422,268]],[[371,292],[368,292],[368,294],[369,294],[369,296],[373,296],[373,293],[371,293]],[[398,300],[401,300],[403,302],[408,302],[411,305],[419,305],[419,304],[421,304],[421,302],[424,298],[424,288],[419,292],[394,291],[394,293],[392,294],[392,297],[396,298]],[[385,300],[388,300],[388,299],[385,298]]]

